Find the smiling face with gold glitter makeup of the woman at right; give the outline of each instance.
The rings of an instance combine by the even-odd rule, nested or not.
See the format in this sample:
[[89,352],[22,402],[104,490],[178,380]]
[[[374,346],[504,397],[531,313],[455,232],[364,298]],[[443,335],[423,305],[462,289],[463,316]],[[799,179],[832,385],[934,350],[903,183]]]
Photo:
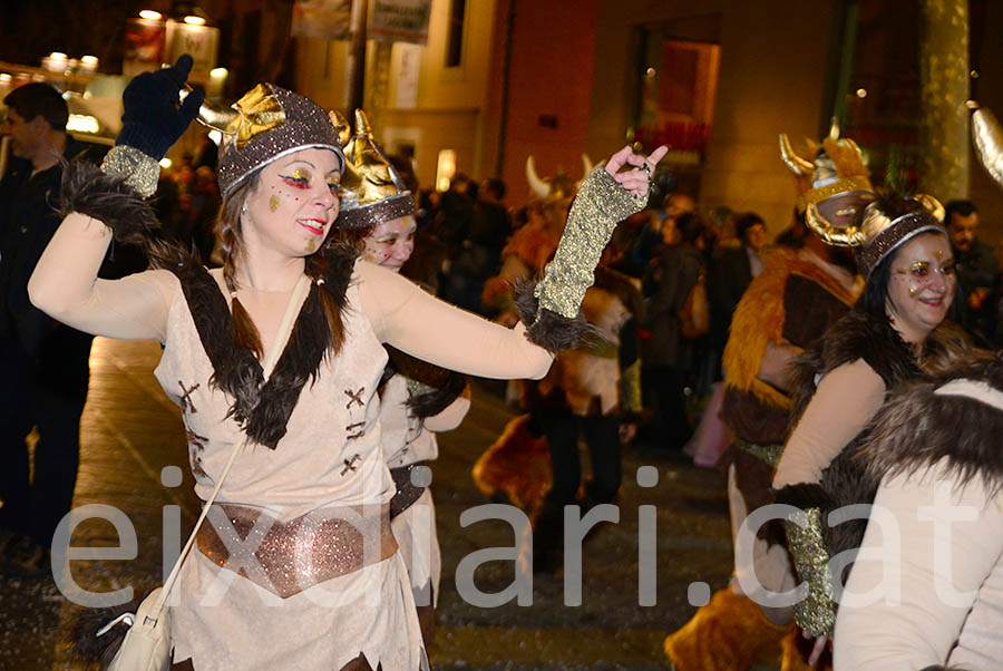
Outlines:
[[892,260],[888,310],[909,342],[922,342],[947,315],[956,279],[947,239],[919,234],[899,247]]

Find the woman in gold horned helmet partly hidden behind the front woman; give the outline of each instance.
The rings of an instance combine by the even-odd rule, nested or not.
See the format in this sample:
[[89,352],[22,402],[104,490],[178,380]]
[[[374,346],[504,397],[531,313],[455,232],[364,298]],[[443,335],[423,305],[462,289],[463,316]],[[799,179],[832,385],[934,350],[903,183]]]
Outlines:
[[[377,145],[366,113],[356,110],[354,135],[348,123],[339,120],[347,161],[341,188],[356,197],[341,210],[335,225],[367,228],[362,257],[399,272],[415,250],[413,196]],[[390,527],[408,568],[421,638],[429,645],[441,555],[431,489],[419,467],[438,457],[434,431],[459,426],[470,408],[470,393],[464,376],[396,348],[387,350],[390,361],[380,385],[380,436],[397,489],[390,499]]]

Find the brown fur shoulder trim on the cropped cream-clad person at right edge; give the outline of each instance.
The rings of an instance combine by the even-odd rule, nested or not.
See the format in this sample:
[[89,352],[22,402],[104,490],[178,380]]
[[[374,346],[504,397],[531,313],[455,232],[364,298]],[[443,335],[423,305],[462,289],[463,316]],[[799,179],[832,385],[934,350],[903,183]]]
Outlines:
[[947,459],[960,485],[982,478],[1003,490],[1003,411],[967,396],[938,395],[951,380],[985,382],[1003,391],[1003,361],[982,356],[934,382],[904,387],[882,407],[857,459],[876,479],[913,474]]

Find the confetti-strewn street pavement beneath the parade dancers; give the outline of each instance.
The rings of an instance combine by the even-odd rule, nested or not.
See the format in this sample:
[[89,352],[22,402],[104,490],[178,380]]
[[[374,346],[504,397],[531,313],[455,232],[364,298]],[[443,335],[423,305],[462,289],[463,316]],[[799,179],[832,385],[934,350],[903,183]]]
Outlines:
[[[0,566],[0,670],[75,669],[66,661],[71,609],[64,593],[133,587],[145,594],[163,576],[162,539],[184,541],[194,525],[198,508],[179,412],[153,377],[159,354],[159,346],[150,341],[96,339],[81,422],[75,506],[101,504],[125,516],[118,529],[104,519],[80,523],[72,544],[115,547],[119,534],[132,528],[136,556],[74,561],[62,591],[51,574],[26,575]],[[572,604],[577,582],[572,571],[533,576],[532,604],[470,603],[457,589],[457,566],[474,552],[516,542],[513,528],[500,519],[460,524],[465,510],[488,503],[470,468],[514,416],[498,389],[497,383],[475,381],[474,405],[462,426],[439,435],[431,488],[444,566],[429,650],[432,668],[665,669],[665,634],[692,615],[691,600],[708,599],[728,581],[731,542],[722,475],[626,449],[620,521],[602,523],[585,544],[580,604]],[[583,464],[587,461],[584,457]],[[644,466],[655,471],[642,470],[642,487],[637,474]],[[639,510],[654,515],[655,542],[645,551],[656,557],[653,571],[639,570],[645,564],[639,561]],[[483,593],[501,592],[515,571],[512,561],[486,562],[474,573],[474,583]]]

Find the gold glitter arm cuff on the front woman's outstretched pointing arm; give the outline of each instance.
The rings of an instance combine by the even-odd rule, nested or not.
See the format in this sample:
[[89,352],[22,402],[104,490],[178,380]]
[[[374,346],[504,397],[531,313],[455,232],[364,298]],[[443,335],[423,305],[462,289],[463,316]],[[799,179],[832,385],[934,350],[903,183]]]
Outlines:
[[554,260],[536,285],[534,295],[539,300],[539,308],[575,319],[616,224],[646,203],[647,196],[632,196],[604,166],[592,171],[572,203]]

